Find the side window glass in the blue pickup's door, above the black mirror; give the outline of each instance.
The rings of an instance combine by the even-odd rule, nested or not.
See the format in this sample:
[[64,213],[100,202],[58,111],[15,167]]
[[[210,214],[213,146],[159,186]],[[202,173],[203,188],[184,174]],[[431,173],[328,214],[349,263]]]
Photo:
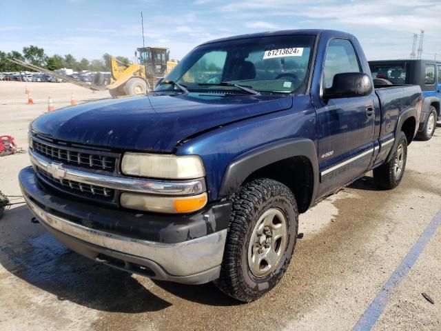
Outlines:
[[356,51],[347,39],[331,39],[325,58],[324,87],[330,88],[334,76],[344,72],[361,72]]

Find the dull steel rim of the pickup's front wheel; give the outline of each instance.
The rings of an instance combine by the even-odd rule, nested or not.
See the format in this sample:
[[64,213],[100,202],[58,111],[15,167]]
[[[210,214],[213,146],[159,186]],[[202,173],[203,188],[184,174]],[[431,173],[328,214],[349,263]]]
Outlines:
[[276,269],[287,245],[287,219],[278,208],[259,217],[248,245],[248,267],[256,277],[265,277]]

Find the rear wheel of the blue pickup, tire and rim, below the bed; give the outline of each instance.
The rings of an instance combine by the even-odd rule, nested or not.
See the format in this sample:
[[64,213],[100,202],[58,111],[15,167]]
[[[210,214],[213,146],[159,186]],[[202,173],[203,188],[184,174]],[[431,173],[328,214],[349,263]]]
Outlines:
[[379,188],[392,189],[400,185],[407,161],[407,138],[404,132],[397,134],[397,145],[389,162],[373,170],[373,181]]

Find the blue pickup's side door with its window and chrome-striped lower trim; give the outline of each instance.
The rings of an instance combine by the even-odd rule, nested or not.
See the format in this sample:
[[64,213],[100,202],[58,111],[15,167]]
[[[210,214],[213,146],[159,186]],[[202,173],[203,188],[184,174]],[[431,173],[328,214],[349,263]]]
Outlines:
[[[343,72],[362,70],[351,41],[334,38],[327,46],[322,90],[330,88],[334,75]],[[322,101],[321,107],[316,108],[322,194],[347,184],[369,168],[373,156],[374,93]]]

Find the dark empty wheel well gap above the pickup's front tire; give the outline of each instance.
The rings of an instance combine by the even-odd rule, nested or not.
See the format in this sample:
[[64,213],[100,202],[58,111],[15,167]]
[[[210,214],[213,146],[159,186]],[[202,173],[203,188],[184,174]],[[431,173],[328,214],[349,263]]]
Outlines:
[[244,183],[269,178],[287,185],[296,197],[298,212],[306,212],[314,190],[314,170],[307,157],[291,157],[256,170]]

